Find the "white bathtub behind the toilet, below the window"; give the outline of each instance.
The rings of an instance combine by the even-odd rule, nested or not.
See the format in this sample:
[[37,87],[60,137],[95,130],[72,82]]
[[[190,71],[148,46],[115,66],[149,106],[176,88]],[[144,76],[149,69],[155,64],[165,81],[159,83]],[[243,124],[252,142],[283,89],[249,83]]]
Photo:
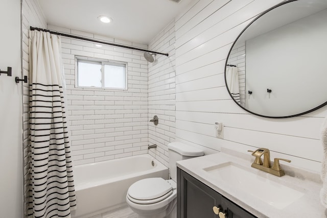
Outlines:
[[127,205],[127,189],[140,179],[169,179],[168,168],[149,154],[78,165],[73,171],[77,203],[73,218],[86,218]]

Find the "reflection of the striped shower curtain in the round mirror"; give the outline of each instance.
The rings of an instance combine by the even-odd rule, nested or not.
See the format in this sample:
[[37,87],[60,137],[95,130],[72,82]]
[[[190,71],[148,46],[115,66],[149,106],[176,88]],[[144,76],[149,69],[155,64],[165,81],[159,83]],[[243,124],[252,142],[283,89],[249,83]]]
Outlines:
[[240,104],[239,72],[236,66],[227,66],[226,82],[231,96]]

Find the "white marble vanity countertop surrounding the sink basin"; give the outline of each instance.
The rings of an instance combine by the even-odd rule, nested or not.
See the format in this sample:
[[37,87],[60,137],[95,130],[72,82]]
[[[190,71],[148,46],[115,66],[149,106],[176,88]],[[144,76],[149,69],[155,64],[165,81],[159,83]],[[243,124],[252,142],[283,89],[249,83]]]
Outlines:
[[[240,187],[235,187],[236,185],[231,185],[224,181],[224,178],[210,175],[208,172],[204,171],[204,168],[229,161],[239,164],[242,167],[246,167],[246,170],[255,174],[256,178],[266,178],[271,181],[281,183],[285,186],[303,192],[304,195],[288,206],[282,209],[277,209],[269,203],[262,201],[254,195],[251,195],[248,190],[242,190]],[[299,168],[288,166],[285,167],[281,164],[286,175],[283,177],[277,177],[252,168],[252,162],[253,159],[250,155],[244,158],[244,155],[236,157],[235,155],[231,156],[227,153],[220,152],[178,161],[176,165],[186,173],[216,190],[224,197],[260,218],[327,217],[327,210],[321,205],[319,198],[319,192],[322,187],[319,174],[308,172]],[[251,174],[251,176],[253,174]],[[278,195],[283,198],[282,192],[280,194],[278,193]]]

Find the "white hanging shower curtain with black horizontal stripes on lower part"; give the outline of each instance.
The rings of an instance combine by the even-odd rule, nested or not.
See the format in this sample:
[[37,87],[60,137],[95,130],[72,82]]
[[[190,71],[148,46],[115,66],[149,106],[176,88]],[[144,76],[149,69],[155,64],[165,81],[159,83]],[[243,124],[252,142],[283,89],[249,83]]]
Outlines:
[[71,217],[76,209],[64,107],[61,40],[30,31],[29,217]]

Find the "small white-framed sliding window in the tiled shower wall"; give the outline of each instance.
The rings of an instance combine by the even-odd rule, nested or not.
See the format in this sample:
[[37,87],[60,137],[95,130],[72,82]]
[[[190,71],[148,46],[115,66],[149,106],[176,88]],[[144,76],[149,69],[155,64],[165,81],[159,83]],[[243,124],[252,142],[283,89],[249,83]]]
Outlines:
[[77,86],[127,89],[126,65],[77,58]]

